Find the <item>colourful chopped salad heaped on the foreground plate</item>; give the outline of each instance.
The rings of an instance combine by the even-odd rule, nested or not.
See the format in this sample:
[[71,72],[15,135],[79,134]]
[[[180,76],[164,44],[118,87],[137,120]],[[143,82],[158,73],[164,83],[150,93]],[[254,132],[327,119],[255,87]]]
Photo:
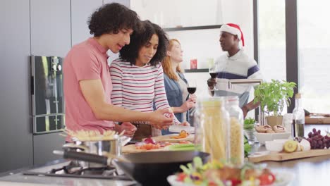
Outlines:
[[269,169],[245,163],[238,168],[228,163],[212,161],[202,164],[200,157],[193,163],[181,165],[183,173],[178,173],[176,180],[193,185],[271,185],[276,177]]

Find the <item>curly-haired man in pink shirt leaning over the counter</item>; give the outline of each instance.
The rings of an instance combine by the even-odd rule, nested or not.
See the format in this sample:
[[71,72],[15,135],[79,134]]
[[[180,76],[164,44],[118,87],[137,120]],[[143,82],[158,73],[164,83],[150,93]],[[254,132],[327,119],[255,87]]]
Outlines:
[[66,128],[125,130],[126,135],[133,136],[136,128],[130,121],[147,121],[156,128],[171,125],[173,118],[164,116],[169,110],[141,113],[111,104],[112,82],[106,51],[118,53],[130,43],[130,35],[140,27],[135,11],[121,4],[106,4],[92,13],[88,23],[94,37],[73,46],[63,65]]

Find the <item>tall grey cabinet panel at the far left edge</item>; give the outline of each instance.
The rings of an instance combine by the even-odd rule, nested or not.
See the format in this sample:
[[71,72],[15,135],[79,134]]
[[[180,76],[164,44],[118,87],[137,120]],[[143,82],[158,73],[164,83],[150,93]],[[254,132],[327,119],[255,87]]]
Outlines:
[[33,163],[29,7],[26,0],[1,1],[0,5],[0,172]]

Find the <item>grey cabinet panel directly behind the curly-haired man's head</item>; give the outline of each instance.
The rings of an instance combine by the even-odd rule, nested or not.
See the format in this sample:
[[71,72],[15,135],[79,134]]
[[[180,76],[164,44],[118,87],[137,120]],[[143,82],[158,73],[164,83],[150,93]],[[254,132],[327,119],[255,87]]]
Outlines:
[[102,0],[71,0],[72,46],[92,37],[87,20],[102,3]]

